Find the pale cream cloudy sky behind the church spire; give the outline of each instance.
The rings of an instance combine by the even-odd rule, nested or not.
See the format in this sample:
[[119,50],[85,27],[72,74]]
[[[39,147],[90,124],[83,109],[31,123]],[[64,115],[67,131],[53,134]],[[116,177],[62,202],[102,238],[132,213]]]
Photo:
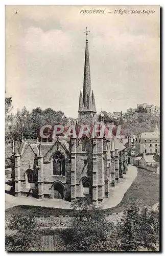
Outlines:
[[[155,13],[114,13],[120,9]],[[159,105],[159,6],[6,6],[6,96],[13,112],[39,106],[78,115],[86,27],[97,112]]]

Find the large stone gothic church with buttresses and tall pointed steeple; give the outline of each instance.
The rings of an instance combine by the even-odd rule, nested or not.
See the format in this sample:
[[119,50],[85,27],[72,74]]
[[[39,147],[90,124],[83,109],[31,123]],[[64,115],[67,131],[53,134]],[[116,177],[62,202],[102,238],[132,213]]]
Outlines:
[[[88,38],[86,31],[83,92],[80,91],[78,122],[94,127],[104,124],[104,115],[97,115],[90,82]],[[58,198],[73,202],[89,196],[98,205],[111,196],[110,187],[123,178],[128,169],[127,148],[112,136],[56,137],[53,141],[22,140],[15,143],[12,179],[15,196]]]

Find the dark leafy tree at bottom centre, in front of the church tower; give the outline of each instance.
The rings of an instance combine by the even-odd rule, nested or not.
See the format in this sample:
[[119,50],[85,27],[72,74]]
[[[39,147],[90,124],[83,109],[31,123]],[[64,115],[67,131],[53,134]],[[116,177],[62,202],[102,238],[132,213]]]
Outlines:
[[109,250],[109,224],[101,207],[93,205],[89,198],[77,199],[72,207],[79,216],[72,220],[65,241],[68,251]]

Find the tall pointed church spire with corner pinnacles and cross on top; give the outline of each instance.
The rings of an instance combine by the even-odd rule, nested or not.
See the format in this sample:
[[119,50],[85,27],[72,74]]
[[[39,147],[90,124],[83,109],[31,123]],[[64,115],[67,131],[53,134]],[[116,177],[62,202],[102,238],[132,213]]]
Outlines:
[[[93,91],[91,92],[90,82],[90,65],[89,65],[89,50],[88,50],[88,32],[86,27],[86,44],[85,44],[85,63],[84,63],[84,83],[83,83],[83,96],[80,92],[79,98],[79,111],[84,112],[97,112],[95,104],[95,96]],[[83,104],[82,104],[83,100]],[[78,111],[78,112],[79,112]]]

